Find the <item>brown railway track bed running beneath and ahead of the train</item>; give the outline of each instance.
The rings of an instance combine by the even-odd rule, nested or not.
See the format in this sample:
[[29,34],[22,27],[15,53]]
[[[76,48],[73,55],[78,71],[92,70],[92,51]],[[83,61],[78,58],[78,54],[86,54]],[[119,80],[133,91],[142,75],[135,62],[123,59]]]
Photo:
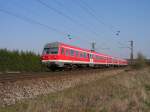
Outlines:
[[79,69],[79,70],[71,70],[71,71],[57,71],[57,72],[37,72],[37,73],[14,73],[14,74],[1,74],[0,75],[0,83],[6,82],[15,82],[18,80],[32,80],[36,78],[52,78],[59,79],[61,77],[67,75],[86,75],[87,73],[94,72],[104,72],[110,71],[114,69],[122,69],[122,68],[103,68],[103,69]]

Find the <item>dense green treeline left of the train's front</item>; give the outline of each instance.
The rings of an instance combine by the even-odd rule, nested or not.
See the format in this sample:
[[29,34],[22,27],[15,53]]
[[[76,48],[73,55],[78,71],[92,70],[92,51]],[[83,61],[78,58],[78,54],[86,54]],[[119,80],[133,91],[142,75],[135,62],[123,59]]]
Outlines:
[[0,49],[0,71],[43,71],[40,55],[30,51]]

